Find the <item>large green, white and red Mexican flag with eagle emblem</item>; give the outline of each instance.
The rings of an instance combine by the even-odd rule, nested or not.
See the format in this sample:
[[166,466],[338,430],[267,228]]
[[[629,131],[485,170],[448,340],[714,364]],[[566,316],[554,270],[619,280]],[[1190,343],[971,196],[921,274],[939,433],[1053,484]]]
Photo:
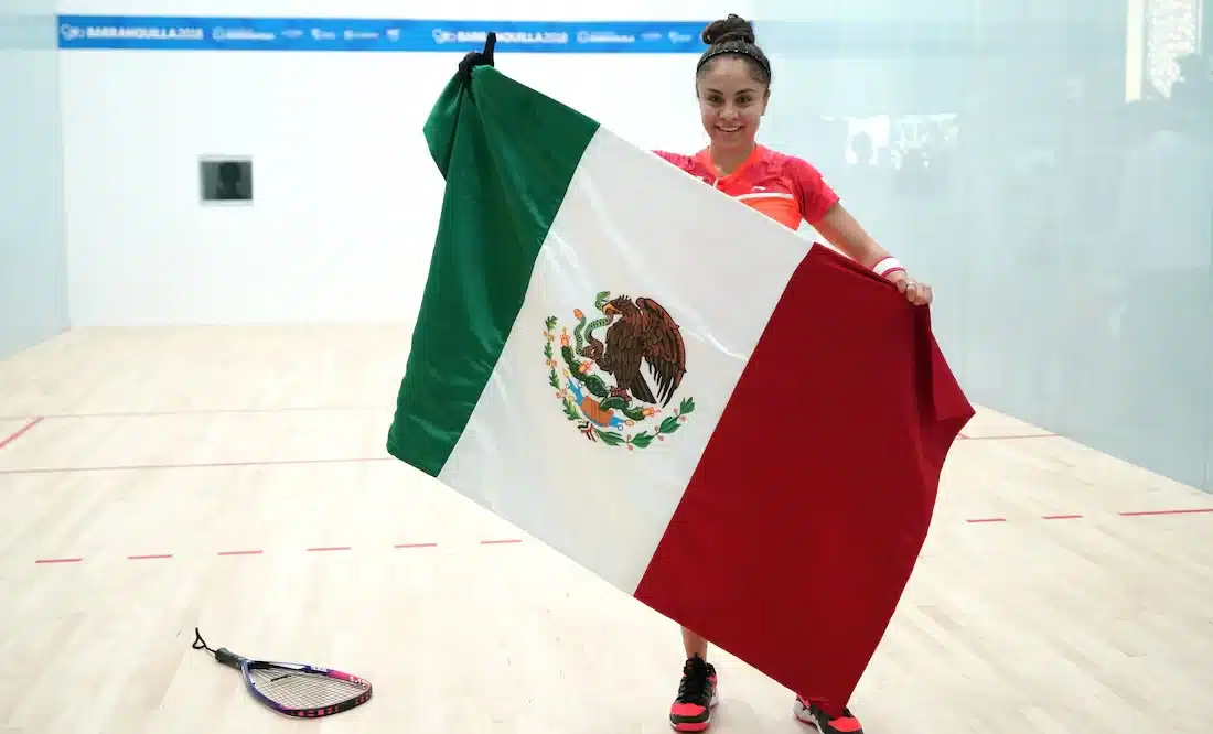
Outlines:
[[388,451],[841,709],[973,415],[928,311],[492,67],[425,132]]

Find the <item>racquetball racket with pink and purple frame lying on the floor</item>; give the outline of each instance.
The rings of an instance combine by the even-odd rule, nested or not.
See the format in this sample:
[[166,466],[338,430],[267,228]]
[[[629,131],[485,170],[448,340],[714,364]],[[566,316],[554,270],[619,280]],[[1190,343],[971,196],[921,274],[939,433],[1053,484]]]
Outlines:
[[319,718],[349,711],[371,699],[371,684],[357,676],[298,662],[272,662],[237,655],[227,648],[212,650],[194,627],[195,650],[244,675],[249,693],[273,711],[298,718]]

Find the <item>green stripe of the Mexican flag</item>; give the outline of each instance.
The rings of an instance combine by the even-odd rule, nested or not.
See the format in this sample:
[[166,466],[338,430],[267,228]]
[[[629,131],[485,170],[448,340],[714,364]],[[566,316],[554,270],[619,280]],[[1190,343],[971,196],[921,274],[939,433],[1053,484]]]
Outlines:
[[[598,123],[508,79],[456,75],[426,121],[446,178],[387,450],[438,476],[505,348],[535,258]],[[448,171],[455,171],[448,176]]]

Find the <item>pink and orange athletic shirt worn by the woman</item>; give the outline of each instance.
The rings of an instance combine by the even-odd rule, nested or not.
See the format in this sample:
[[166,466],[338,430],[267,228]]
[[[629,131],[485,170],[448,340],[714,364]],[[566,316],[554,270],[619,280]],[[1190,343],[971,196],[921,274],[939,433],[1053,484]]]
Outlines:
[[728,176],[721,176],[707,148],[695,155],[654,153],[790,229],[798,229],[801,220],[816,224],[838,201],[838,194],[809,161],[763,146],[754,146]]

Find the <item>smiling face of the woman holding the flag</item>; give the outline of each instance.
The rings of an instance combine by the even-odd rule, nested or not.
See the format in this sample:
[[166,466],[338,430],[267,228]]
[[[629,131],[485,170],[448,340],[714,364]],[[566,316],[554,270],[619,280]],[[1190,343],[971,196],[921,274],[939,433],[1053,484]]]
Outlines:
[[750,62],[736,56],[712,59],[696,84],[699,114],[716,148],[750,148],[767,112],[767,86]]

